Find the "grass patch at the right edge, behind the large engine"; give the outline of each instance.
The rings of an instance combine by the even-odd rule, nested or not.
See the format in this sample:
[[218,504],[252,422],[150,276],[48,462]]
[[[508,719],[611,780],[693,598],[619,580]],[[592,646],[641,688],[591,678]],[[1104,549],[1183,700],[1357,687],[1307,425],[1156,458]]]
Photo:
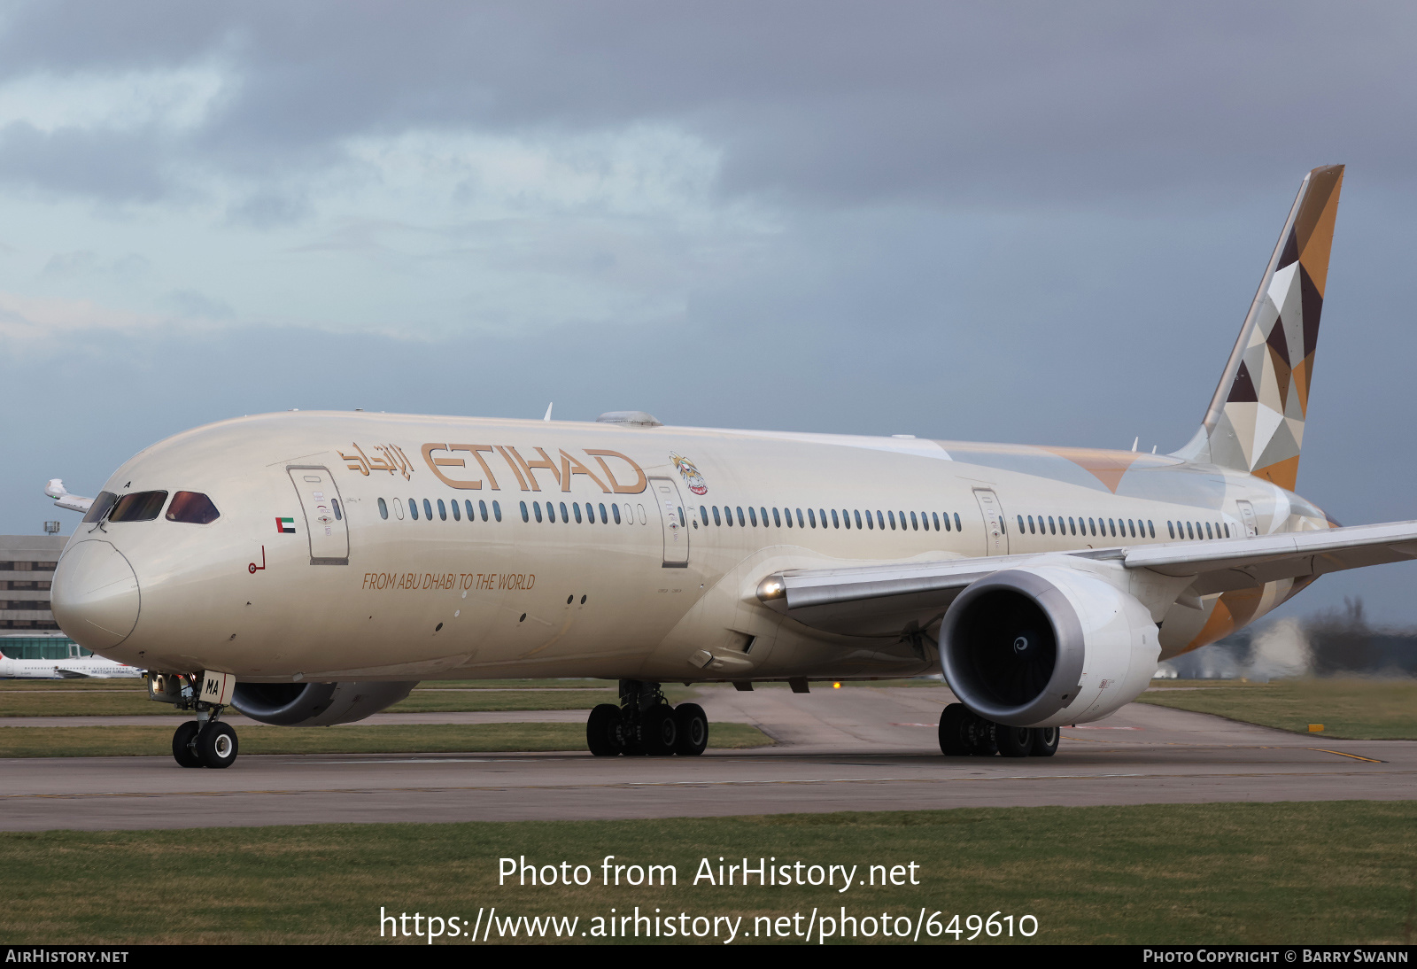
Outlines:
[[1356,677],[1275,680],[1152,680],[1152,686],[1197,690],[1144,693],[1139,703],[1217,714],[1261,727],[1336,740],[1417,740],[1417,680]]

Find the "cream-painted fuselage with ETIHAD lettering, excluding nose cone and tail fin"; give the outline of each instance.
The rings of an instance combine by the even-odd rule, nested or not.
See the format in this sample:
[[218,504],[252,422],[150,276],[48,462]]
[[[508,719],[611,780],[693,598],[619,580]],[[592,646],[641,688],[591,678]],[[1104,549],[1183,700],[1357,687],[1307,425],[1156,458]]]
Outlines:
[[[132,565],[140,595],[136,623],[120,642],[99,649],[145,669],[221,670],[255,681],[686,681],[938,670],[930,649],[813,632],[762,606],[755,589],[762,577],[788,568],[990,554],[979,490],[996,496],[1012,554],[1169,541],[1166,521],[1209,521],[1244,534],[1237,499],[1254,504],[1261,534],[1329,527],[1309,503],[1275,494],[1268,482],[1244,473],[1155,455],[1085,452],[1129,468],[1118,487],[1115,477],[1060,453],[563,421],[272,414],[153,445],[105,486],[118,494],[201,492],[221,513],[215,521],[81,524],[65,555],[102,541]],[[310,494],[299,493],[300,469],[316,469],[310,476],[320,479]],[[670,486],[662,496],[656,480]],[[316,504],[332,497],[340,500],[339,518],[322,523],[332,509]],[[478,509],[475,521],[466,520],[465,506],[461,520],[439,517],[439,502],[468,500]],[[482,520],[479,503],[490,513],[493,502],[500,523]],[[521,504],[530,510],[533,502],[543,509],[553,502],[555,523],[523,521]],[[684,521],[670,528],[665,517],[677,517],[676,502]],[[578,523],[574,513],[564,521],[563,503],[568,510],[578,503],[582,518],[591,503],[595,524]],[[618,506],[621,524],[602,523],[601,506]],[[733,509],[731,526],[714,523],[716,506],[720,521],[724,507]],[[738,509],[747,517],[750,506],[757,526],[738,523]],[[707,526],[700,507],[710,510]],[[764,524],[762,509],[769,520],[774,510],[779,520],[791,510],[791,527]],[[822,510],[826,521],[818,520]],[[843,511],[850,527],[839,523]],[[857,513],[866,511],[886,527],[857,527]],[[888,513],[903,511],[891,528]],[[921,513],[948,513],[951,530],[913,526],[911,513],[917,521]],[[962,528],[954,527],[955,516]],[[1024,524],[1020,533],[1020,516],[1036,517],[1032,531]],[[1039,534],[1049,516],[1053,531]],[[1151,521],[1158,533],[1056,534],[1070,517]],[[281,518],[295,520],[293,533]],[[312,564],[312,527],[313,561],[320,564]],[[330,564],[344,548],[341,527],[347,564]],[[1289,588],[1271,585],[1265,608]],[[64,625],[60,591],[55,596]],[[1166,613],[1163,654],[1193,643],[1212,605],[1178,605]],[[89,646],[82,632],[67,632]],[[706,653],[716,662],[706,666]]]

